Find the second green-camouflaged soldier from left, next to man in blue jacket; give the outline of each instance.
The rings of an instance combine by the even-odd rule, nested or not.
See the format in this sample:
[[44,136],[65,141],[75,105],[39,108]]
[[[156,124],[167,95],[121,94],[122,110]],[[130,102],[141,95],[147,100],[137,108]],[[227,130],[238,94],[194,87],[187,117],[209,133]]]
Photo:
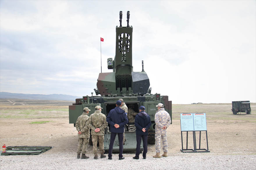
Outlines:
[[93,141],[93,153],[94,159],[98,159],[97,143],[99,141],[100,158],[106,158],[104,155],[104,132],[108,126],[106,116],[101,113],[102,107],[96,106],[95,112],[90,115],[90,118],[86,125],[91,129],[92,141]]

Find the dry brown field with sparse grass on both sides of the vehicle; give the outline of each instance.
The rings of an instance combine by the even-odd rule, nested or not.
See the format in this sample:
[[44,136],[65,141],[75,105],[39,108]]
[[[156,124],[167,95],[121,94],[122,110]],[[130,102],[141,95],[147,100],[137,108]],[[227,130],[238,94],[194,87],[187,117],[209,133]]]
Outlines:
[[[72,101],[0,100],[0,145],[53,146],[43,154],[75,156],[77,131],[73,124],[69,124],[68,105],[72,105]],[[173,123],[168,128],[168,153],[182,154],[180,113],[206,113],[208,154],[255,154],[256,103],[251,103],[252,114],[234,115],[231,107],[231,103],[173,105]],[[206,148],[205,136],[202,132],[201,148]],[[183,138],[186,138],[185,133]],[[188,148],[192,149],[192,133],[188,138]],[[199,141],[199,133],[196,138]],[[93,154],[91,146],[88,152]],[[154,145],[149,145],[147,155],[154,153]]]

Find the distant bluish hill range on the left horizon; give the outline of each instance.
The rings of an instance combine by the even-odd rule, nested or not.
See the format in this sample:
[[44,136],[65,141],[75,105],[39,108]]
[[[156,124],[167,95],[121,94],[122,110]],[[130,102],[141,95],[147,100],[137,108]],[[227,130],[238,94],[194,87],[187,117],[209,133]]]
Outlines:
[[32,100],[67,100],[75,101],[81,96],[70,96],[65,94],[22,94],[22,93],[8,93],[0,92],[0,98],[16,98],[16,99],[32,99]]

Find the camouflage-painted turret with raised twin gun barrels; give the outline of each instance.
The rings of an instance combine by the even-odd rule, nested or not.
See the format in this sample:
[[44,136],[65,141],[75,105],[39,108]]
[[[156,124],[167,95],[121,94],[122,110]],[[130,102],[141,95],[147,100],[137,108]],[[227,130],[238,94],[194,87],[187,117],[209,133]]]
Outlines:
[[147,73],[133,72],[132,66],[132,26],[129,26],[130,12],[127,12],[127,26],[122,26],[120,11],[120,26],[116,26],[115,59],[107,60],[108,69],[113,72],[99,73],[96,95],[117,94],[118,96],[147,94],[150,83]]

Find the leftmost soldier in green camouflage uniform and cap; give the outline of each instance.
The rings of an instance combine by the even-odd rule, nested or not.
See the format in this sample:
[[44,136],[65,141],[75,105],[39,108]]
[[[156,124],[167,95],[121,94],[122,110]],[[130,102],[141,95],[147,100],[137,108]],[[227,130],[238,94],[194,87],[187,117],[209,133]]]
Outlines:
[[90,138],[90,129],[86,125],[89,119],[89,111],[91,111],[88,107],[83,108],[83,114],[77,118],[76,128],[78,131],[78,148],[77,148],[77,159],[80,158],[80,153],[82,152],[81,159],[88,159],[89,157],[85,155],[87,152],[87,146]]

